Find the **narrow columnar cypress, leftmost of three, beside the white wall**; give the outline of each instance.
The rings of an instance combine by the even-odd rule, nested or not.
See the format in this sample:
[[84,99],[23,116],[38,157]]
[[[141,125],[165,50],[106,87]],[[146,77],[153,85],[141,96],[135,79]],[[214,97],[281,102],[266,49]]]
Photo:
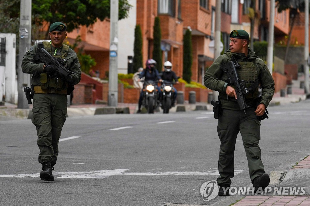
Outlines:
[[135,42],[134,42],[134,59],[133,59],[134,72],[137,72],[142,63],[142,32],[140,25],[135,26]]

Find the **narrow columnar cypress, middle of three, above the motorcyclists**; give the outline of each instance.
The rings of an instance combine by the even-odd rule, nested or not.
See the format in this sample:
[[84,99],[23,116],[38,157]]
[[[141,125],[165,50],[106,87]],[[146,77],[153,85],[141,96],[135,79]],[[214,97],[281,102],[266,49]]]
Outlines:
[[153,59],[157,62],[158,71],[162,71],[162,49],[161,49],[161,41],[162,41],[162,32],[160,29],[159,17],[155,17],[154,27],[153,27]]

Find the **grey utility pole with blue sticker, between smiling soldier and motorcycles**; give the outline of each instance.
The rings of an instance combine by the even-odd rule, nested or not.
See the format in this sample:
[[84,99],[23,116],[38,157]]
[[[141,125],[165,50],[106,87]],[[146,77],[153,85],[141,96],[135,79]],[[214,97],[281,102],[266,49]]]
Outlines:
[[109,58],[109,94],[108,106],[116,107],[118,101],[118,77],[117,77],[117,22],[118,0],[110,1],[110,58]]

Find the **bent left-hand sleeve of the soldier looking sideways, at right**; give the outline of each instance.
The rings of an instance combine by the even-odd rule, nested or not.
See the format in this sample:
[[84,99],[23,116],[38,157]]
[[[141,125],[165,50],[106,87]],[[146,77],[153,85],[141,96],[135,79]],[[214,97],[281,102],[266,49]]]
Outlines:
[[223,75],[222,65],[229,61],[227,55],[221,55],[215,59],[213,64],[208,68],[204,76],[204,84],[210,90],[226,92],[227,82],[221,79]]

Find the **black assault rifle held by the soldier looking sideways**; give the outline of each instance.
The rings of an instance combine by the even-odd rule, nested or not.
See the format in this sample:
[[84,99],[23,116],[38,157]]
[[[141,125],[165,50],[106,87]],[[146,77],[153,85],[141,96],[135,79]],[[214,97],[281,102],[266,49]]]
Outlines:
[[246,109],[250,107],[246,105],[246,101],[243,94],[249,94],[249,90],[245,88],[242,83],[239,82],[237,68],[240,67],[241,66],[237,62],[229,61],[227,64],[223,66],[223,71],[227,73],[229,84],[235,86],[235,90],[237,93],[237,100],[236,99],[229,99],[229,100],[237,101],[240,110],[243,110],[244,114],[246,114]]

